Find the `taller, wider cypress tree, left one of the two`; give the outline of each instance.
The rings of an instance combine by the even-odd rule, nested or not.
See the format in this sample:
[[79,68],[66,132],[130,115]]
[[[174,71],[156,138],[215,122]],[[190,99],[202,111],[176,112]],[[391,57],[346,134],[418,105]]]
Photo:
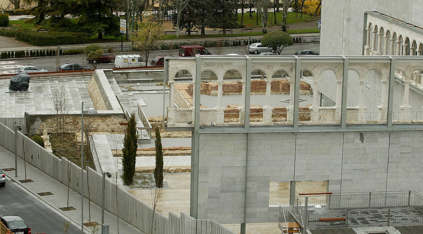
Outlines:
[[132,112],[125,131],[124,147],[122,148],[122,180],[125,185],[134,183],[137,147],[137,121],[135,121],[135,112]]

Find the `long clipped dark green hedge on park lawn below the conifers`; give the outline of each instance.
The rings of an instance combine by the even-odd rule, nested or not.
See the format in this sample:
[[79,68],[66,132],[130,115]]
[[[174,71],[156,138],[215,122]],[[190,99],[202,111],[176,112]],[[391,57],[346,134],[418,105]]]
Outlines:
[[85,32],[37,32],[29,29],[0,30],[0,35],[15,37],[33,46],[57,46],[69,44],[84,44],[90,40]]

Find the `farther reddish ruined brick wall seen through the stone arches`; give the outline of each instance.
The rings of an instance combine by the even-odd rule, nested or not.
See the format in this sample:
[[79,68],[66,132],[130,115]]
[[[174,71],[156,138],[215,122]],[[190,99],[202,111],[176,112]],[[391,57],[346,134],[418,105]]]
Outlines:
[[[310,94],[310,84],[305,81],[300,81],[299,90],[301,94]],[[211,96],[217,95],[218,85],[216,82],[201,82],[201,94]],[[223,82],[223,94],[242,94],[241,81]],[[288,79],[274,79],[270,84],[270,91],[272,94],[289,94],[290,84]],[[266,94],[266,80],[252,80],[251,94]]]

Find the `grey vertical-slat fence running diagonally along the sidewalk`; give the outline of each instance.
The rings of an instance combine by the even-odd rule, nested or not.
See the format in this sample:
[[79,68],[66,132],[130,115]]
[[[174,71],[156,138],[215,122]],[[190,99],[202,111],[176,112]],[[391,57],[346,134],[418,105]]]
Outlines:
[[[74,191],[81,192],[80,167],[63,157],[59,159],[21,132],[18,132],[17,139],[16,153],[19,157]],[[14,131],[4,124],[0,124],[0,145],[15,152]],[[102,204],[102,175],[87,167],[84,178],[86,181],[83,185],[84,196],[87,198],[89,196],[91,202],[95,204]],[[169,213],[169,218],[166,218],[109,180],[106,182],[105,194],[107,194],[105,210],[147,234],[234,234],[216,221],[195,219],[184,213],[181,213],[180,217]]]

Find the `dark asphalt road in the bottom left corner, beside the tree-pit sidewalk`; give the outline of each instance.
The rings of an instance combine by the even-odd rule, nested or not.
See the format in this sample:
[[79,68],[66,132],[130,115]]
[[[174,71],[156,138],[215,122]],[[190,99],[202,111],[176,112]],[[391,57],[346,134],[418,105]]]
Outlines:
[[[46,207],[38,199],[30,196],[10,180],[0,187],[0,214],[18,215],[25,220],[33,234],[60,234],[66,220]],[[80,229],[69,226],[68,233],[78,233]]]

